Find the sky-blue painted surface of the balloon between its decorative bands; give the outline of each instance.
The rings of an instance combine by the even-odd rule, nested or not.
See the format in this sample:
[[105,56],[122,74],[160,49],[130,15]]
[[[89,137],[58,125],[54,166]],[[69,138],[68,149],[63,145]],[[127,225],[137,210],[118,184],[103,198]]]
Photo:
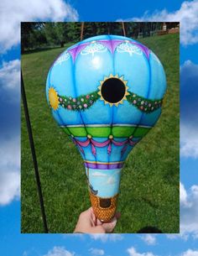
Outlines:
[[[100,40],[109,42],[103,44]],[[115,40],[118,44],[115,44]],[[93,42],[94,41],[94,42]],[[98,42],[99,41],[99,42]],[[134,44],[133,44],[134,43]],[[114,50],[114,51],[113,51]],[[151,100],[164,97],[166,80],[164,68],[158,57],[149,51],[138,41],[117,35],[101,35],[86,39],[71,46],[59,56],[52,65],[47,79],[46,93],[53,87],[59,95],[67,97],[79,97],[97,91],[100,81],[105,76],[123,76],[127,82],[128,91]],[[57,110],[52,109],[53,117],[60,125],[84,124],[137,124],[154,126],[161,113],[161,109],[145,113],[123,99],[122,104],[110,106],[99,98],[85,111],[75,112],[61,106]],[[86,141],[85,138],[76,138]],[[108,138],[93,138],[96,142],[105,142]],[[126,138],[116,138],[124,141]],[[140,140],[140,138],[137,138]],[[112,144],[111,154],[108,154],[108,146],[96,147],[96,155],[93,154],[91,144],[81,147],[84,153],[81,156],[86,161],[113,163],[124,161],[134,146],[128,145],[122,154],[122,146]],[[77,146],[78,149],[79,146]],[[87,170],[87,169],[86,169]],[[89,170],[89,182],[97,196],[115,196],[118,193],[120,170]]]

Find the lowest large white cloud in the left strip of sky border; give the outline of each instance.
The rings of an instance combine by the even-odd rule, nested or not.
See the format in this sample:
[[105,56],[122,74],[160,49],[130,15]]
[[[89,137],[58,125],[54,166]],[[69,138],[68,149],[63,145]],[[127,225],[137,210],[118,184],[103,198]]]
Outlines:
[[0,145],[0,206],[20,195],[20,138],[2,140]]

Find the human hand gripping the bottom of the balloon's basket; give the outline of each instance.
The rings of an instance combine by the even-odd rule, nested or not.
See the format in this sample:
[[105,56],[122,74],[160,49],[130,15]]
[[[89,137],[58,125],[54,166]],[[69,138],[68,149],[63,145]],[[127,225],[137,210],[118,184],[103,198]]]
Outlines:
[[85,233],[113,232],[113,229],[114,227],[116,227],[117,220],[119,217],[120,217],[120,213],[117,212],[115,217],[112,218],[111,222],[103,223],[96,218],[93,212],[93,208],[90,207],[85,212],[81,212],[74,232],[85,232]]

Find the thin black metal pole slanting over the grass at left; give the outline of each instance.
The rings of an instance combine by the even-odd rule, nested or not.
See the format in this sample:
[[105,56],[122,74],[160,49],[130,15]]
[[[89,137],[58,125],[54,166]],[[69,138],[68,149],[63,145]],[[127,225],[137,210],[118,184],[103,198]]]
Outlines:
[[22,71],[21,71],[21,95],[22,95],[22,100],[23,100],[26,124],[27,124],[27,128],[28,128],[28,133],[29,133],[29,144],[30,144],[33,163],[34,163],[34,173],[35,173],[36,184],[37,184],[37,189],[38,189],[38,193],[39,193],[39,203],[40,203],[40,210],[41,210],[42,219],[43,219],[43,223],[44,223],[44,232],[47,233],[48,225],[47,225],[46,215],[44,212],[44,199],[43,199],[42,189],[41,189],[41,185],[40,185],[39,168],[38,168],[36,152],[35,152],[35,148],[34,148],[34,139],[33,139],[32,127],[31,127],[31,123],[30,123],[30,119],[29,119],[29,108],[28,108],[27,99],[26,99],[26,95],[25,95]]

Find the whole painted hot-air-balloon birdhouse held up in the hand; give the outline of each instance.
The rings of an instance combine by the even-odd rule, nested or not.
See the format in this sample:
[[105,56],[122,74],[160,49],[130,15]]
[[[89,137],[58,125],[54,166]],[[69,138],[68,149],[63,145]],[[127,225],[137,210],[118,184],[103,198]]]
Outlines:
[[115,214],[124,161],[157,122],[165,90],[158,57],[122,36],[83,40],[50,68],[47,101],[84,159],[91,205],[103,222]]

